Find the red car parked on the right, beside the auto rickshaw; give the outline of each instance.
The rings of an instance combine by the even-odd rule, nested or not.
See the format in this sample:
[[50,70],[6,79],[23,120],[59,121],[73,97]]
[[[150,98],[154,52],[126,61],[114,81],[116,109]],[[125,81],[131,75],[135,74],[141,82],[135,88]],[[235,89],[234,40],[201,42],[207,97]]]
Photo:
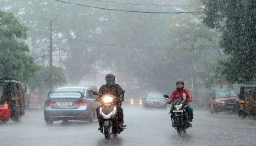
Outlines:
[[210,111],[215,114],[222,111],[236,111],[237,100],[237,94],[233,89],[217,90],[209,100]]

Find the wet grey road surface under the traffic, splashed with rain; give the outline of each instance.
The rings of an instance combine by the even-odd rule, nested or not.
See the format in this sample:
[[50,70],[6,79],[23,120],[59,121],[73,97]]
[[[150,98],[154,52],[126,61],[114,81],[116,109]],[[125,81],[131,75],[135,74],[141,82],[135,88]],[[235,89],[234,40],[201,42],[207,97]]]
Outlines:
[[218,115],[194,110],[193,128],[178,136],[164,110],[124,107],[127,128],[105,141],[98,123],[69,121],[46,126],[43,111],[27,111],[20,123],[0,124],[0,146],[255,146],[256,120],[229,112]]

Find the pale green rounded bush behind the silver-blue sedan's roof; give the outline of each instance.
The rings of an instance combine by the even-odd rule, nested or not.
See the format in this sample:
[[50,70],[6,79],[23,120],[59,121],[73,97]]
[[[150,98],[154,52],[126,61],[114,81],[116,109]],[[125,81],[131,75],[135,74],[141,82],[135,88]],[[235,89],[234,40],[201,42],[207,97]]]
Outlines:
[[43,67],[41,66],[33,77],[29,80],[29,87],[47,88],[50,86],[50,80],[54,86],[64,85],[67,80],[64,73],[60,68],[57,67]]

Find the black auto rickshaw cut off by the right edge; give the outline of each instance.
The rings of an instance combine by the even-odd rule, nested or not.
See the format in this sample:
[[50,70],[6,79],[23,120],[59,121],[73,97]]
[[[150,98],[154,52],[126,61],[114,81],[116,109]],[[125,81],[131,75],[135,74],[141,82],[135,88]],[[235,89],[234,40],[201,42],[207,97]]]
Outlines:
[[241,119],[256,115],[256,85],[242,85],[238,100],[238,115]]

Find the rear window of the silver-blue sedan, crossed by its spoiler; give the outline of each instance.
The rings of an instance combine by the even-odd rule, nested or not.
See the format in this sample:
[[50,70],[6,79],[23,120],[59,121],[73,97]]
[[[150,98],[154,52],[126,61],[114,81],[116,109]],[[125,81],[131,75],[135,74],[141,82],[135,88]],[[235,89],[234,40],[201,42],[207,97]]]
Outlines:
[[[80,97],[81,94],[76,93],[76,92],[84,93],[84,89],[57,89],[56,91],[60,92],[60,93],[53,93],[51,96],[54,96],[54,97],[63,97],[63,96]],[[76,92],[74,92],[74,91],[76,91]]]

